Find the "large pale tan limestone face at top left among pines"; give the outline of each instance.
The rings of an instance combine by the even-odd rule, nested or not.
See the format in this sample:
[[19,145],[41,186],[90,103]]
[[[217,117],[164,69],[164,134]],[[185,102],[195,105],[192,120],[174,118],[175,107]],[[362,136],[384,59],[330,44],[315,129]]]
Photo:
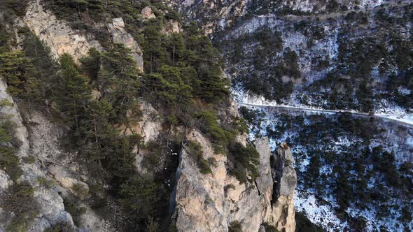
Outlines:
[[57,20],[55,15],[44,10],[40,0],[31,1],[28,4],[23,21],[41,41],[45,42],[56,59],[64,52],[78,60],[87,55],[90,48],[103,50],[100,43],[92,36],[71,29],[66,22]]

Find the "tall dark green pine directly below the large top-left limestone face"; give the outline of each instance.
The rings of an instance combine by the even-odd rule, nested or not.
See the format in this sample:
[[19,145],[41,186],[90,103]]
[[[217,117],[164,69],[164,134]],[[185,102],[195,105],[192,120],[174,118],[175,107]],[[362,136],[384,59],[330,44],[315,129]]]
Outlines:
[[75,126],[78,131],[80,118],[90,100],[90,85],[87,77],[79,74],[71,55],[64,53],[59,63],[61,70],[55,91],[57,111],[67,126]]

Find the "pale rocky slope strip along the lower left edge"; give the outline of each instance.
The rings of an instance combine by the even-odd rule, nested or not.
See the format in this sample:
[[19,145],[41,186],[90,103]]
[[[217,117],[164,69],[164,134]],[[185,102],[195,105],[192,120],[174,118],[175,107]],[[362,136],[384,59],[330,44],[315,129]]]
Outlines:
[[[22,168],[22,175],[15,180],[10,180],[10,176],[0,172],[0,193],[2,196],[1,207],[1,221],[0,230],[6,231],[6,225],[10,224],[9,215],[6,208],[9,205],[13,205],[11,202],[3,202],[6,194],[9,191],[9,187],[13,184],[28,182],[31,187],[34,188],[33,202],[26,202],[27,205],[36,205],[36,216],[32,219],[33,222],[28,225],[28,231],[43,231],[45,228],[51,225],[57,224],[59,222],[65,222],[67,224],[73,225],[73,219],[71,215],[65,211],[63,205],[63,199],[59,196],[59,191],[55,187],[48,188],[40,180],[50,181],[50,176],[41,166],[41,153],[36,153],[31,150],[31,141],[29,140],[29,133],[25,125],[23,125],[23,120],[18,109],[18,104],[13,101],[10,95],[6,92],[7,85],[3,80],[0,80],[0,99],[8,99],[13,106],[7,106],[1,108],[1,116],[10,115],[11,122],[14,123],[15,137],[20,141],[20,147],[16,156],[19,159],[20,168]],[[39,141],[43,143],[43,141]],[[29,157],[34,158],[34,162],[27,162]],[[10,187],[11,188],[11,187]],[[22,209],[20,209],[22,210]]]

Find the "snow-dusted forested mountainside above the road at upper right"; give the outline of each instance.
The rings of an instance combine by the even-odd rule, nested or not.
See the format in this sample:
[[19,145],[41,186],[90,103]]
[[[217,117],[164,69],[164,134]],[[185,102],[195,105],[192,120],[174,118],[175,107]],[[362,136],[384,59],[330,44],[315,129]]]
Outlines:
[[184,1],[241,92],[362,112],[412,109],[410,1]]

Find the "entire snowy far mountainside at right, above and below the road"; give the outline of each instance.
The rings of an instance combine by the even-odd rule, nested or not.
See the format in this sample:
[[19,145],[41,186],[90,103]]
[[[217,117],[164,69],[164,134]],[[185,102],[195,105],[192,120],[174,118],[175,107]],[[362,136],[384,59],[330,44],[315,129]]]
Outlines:
[[251,139],[292,147],[297,231],[412,230],[413,129],[368,115],[412,112],[411,1],[169,2],[221,50]]

